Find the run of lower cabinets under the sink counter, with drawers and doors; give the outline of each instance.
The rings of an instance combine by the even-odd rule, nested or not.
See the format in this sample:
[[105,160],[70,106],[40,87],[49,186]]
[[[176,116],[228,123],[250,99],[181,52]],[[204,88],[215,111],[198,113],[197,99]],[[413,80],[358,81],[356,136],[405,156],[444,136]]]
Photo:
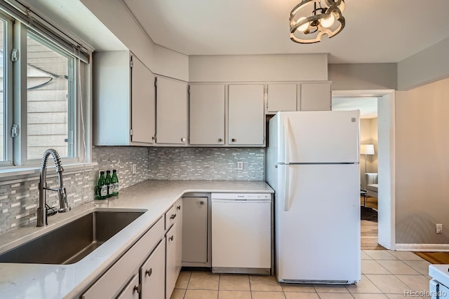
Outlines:
[[81,298],[170,298],[182,265],[182,209],[180,198]]

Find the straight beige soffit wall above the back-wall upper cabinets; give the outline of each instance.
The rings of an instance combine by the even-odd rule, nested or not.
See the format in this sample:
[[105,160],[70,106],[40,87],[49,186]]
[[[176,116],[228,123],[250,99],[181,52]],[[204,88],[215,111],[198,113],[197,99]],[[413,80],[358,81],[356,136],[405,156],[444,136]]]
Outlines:
[[190,82],[327,80],[327,54],[189,57]]

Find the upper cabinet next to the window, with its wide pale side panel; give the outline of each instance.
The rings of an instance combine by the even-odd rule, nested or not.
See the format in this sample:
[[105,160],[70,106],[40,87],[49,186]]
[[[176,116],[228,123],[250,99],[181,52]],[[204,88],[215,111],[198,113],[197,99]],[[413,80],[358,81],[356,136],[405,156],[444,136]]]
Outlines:
[[129,51],[93,55],[93,144],[151,145],[154,75]]

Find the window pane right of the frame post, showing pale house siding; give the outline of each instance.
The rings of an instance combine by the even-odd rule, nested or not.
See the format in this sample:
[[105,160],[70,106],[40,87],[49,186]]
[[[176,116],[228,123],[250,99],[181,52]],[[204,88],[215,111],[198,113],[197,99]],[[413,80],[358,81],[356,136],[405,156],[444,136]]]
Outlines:
[[74,58],[27,34],[27,158],[74,157]]

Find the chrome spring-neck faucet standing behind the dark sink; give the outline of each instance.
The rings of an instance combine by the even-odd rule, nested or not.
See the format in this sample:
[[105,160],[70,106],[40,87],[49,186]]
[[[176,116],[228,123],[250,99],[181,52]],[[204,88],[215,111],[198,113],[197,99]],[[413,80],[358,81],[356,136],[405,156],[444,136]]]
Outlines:
[[[53,155],[55,160],[56,172],[58,172],[58,188],[52,189],[48,188],[46,182],[47,175],[47,161],[48,156]],[[60,213],[70,211],[69,204],[67,204],[67,193],[65,192],[64,183],[62,183],[62,172],[64,169],[61,165],[61,160],[57,151],[53,148],[48,148],[43,153],[42,164],[41,164],[41,177],[39,179],[39,207],[37,208],[37,226],[47,225],[47,204],[46,204],[46,190],[52,190],[58,192]]]

